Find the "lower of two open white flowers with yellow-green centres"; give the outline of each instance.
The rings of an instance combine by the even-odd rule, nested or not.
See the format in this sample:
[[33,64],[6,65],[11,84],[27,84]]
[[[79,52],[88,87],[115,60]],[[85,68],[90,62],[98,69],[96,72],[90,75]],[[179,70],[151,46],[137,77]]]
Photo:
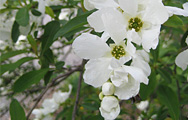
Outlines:
[[72,44],[73,50],[81,58],[90,59],[85,65],[84,80],[87,84],[100,87],[113,70],[129,61],[136,51],[132,43],[115,41],[108,46],[106,40],[84,33]]

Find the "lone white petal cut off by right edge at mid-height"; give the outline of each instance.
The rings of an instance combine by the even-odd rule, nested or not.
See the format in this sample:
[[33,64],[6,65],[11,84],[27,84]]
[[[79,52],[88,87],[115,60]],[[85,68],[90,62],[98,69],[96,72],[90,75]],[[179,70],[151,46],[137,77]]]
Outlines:
[[187,68],[188,65],[188,49],[184,50],[176,57],[175,63],[177,66],[181,67],[183,70]]

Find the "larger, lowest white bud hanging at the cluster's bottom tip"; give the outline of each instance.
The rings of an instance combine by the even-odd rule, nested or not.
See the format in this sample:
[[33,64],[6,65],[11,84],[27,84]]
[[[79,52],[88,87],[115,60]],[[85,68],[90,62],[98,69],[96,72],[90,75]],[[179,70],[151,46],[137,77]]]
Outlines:
[[113,120],[120,113],[119,101],[114,96],[105,96],[99,110],[105,119]]

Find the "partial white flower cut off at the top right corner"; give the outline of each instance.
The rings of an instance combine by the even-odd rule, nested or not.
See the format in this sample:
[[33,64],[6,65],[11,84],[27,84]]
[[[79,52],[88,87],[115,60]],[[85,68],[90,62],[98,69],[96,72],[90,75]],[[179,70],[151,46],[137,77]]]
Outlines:
[[170,16],[174,15],[182,15],[188,17],[188,2],[183,4],[183,9],[177,7],[166,6],[168,13]]

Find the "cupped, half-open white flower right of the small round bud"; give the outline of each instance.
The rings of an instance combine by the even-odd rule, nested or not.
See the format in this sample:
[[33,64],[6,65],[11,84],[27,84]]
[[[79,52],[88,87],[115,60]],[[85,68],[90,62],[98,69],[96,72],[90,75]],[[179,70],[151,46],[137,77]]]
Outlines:
[[119,99],[127,100],[138,94],[140,83],[148,84],[148,78],[142,69],[125,66],[114,69],[111,81],[115,85],[115,95]]

